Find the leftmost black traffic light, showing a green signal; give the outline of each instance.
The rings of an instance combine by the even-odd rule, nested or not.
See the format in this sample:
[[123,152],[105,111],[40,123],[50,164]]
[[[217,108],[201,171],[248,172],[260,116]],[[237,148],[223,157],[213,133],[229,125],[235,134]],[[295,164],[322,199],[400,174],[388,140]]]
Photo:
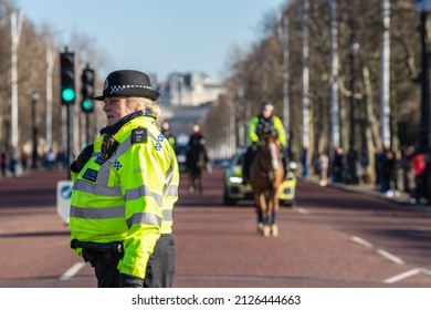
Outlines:
[[62,104],[75,103],[75,55],[71,52],[60,53],[61,97]]

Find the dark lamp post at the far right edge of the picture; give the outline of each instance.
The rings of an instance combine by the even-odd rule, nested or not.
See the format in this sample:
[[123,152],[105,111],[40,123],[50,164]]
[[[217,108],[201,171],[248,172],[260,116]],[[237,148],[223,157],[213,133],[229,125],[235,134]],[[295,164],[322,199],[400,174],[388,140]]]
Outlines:
[[430,78],[428,70],[428,49],[427,49],[427,19],[431,12],[431,0],[417,0],[416,10],[420,14],[420,34],[421,34],[421,124],[420,124],[420,147],[427,152],[431,146],[431,108],[430,108]]

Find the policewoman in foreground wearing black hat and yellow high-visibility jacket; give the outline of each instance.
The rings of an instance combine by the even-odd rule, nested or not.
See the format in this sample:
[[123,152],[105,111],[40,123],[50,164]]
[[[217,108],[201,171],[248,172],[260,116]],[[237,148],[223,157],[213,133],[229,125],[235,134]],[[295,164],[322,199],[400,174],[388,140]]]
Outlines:
[[160,133],[148,75],[112,72],[103,95],[107,126],[71,165],[71,246],[98,287],[171,287],[176,155]]

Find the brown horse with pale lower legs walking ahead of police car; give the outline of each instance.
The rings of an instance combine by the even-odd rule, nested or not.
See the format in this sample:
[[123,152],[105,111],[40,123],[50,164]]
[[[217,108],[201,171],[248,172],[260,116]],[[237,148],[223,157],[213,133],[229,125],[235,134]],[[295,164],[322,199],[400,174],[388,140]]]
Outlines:
[[263,236],[278,236],[276,215],[278,211],[278,187],[284,180],[284,166],[281,157],[281,145],[273,135],[263,138],[264,145],[259,149],[250,167],[250,185],[256,204],[257,230]]

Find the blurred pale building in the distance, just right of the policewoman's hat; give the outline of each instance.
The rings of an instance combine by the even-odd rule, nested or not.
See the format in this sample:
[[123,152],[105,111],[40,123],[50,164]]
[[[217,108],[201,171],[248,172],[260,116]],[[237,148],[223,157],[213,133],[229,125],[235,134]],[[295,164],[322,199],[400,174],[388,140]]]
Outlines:
[[174,72],[157,85],[157,91],[158,102],[165,106],[199,106],[217,101],[225,92],[220,82],[198,72]]

